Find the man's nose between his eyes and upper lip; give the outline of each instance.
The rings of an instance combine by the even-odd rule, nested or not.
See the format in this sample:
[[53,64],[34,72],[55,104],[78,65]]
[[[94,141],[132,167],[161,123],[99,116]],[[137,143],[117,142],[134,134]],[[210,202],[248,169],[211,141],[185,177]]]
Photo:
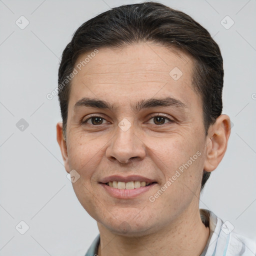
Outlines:
[[143,159],[146,155],[145,145],[134,132],[133,124],[126,131],[118,126],[116,134],[106,149],[106,157],[111,161],[116,159],[121,163],[127,163],[131,158]]

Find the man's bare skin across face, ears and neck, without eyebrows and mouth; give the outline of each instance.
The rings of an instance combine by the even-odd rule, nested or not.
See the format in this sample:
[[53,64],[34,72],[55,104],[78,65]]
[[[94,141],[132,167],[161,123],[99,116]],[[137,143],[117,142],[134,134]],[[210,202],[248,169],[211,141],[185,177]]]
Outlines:
[[[75,169],[80,175],[72,185],[81,205],[97,221],[100,256],[200,255],[206,244],[209,229],[199,215],[201,176],[203,169],[212,171],[221,161],[230,119],[221,114],[205,136],[202,101],[191,84],[192,65],[189,55],[147,42],[100,48],[72,79],[66,140],[59,122],[57,141],[66,171]],[[176,81],[169,75],[174,67],[183,73]],[[134,112],[130,107],[166,95],[187,108],[160,106]],[[116,108],[74,108],[82,97],[103,99]],[[104,119],[82,124],[91,113]],[[159,124],[151,116],[157,113],[174,121],[163,119]],[[123,118],[131,123],[125,132],[118,126]],[[148,197],[197,151],[201,155],[150,202]],[[118,199],[98,183],[113,174],[138,174],[157,184],[133,199]]]

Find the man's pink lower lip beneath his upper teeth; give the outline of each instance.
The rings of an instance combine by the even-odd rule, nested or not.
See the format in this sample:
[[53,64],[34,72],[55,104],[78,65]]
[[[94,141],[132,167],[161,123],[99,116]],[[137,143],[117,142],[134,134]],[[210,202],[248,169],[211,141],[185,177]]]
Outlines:
[[134,198],[142,193],[149,191],[155,184],[157,183],[152,183],[147,186],[141,186],[139,188],[133,188],[133,189],[118,189],[118,188],[108,186],[104,183],[99,183],[99,185],[101,185],[108,194],[119,199]]

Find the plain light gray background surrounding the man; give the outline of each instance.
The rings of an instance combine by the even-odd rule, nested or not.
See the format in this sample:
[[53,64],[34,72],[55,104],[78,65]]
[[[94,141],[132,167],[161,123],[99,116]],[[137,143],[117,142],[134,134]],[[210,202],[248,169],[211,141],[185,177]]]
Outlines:
[[[97,235],[62,164],[57,96],[48,100],[46,94],[57,86],[59,57],[78,26],[110,7],[136,2],[142,1],[0,0],[0,255],[74,255]],[[233,127],[200,207],[256,238],[256,1],[159,2],[203,25],[224,59],[223,113]],[[29,21],[24,29],[15,23],[25,24],[21,15]],[[234,21],[229,29],[227,15]],[[29,226],[24,234],[21,220]]]

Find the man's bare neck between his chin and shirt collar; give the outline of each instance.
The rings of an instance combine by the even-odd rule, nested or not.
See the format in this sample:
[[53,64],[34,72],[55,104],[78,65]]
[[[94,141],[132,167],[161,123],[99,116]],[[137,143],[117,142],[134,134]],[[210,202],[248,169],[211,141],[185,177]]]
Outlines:
[[119,235],[97,222],[100,233],[97,254],[199,256],[209,236],[209,228],[202,223],[199,210],[193,214],[183,213],[174,222],[142,236]]

